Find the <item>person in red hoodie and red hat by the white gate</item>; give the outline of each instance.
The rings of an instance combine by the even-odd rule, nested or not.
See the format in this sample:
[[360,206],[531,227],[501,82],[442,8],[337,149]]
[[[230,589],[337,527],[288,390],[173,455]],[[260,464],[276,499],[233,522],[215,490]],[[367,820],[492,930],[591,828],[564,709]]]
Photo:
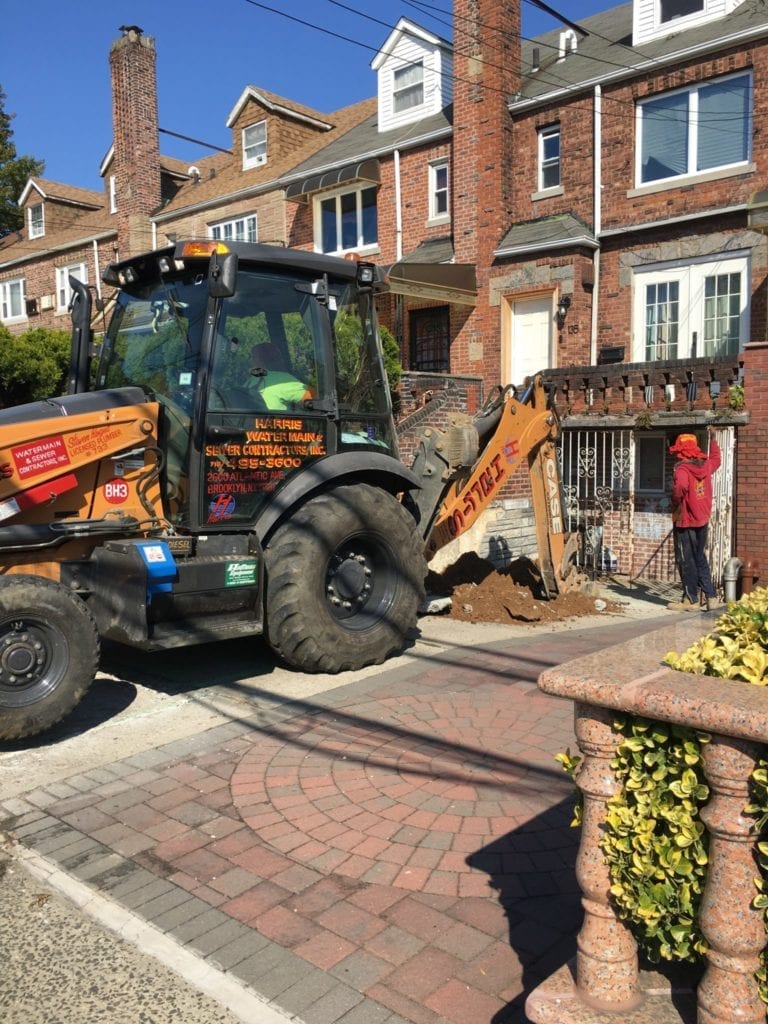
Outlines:
[[672,517],[675,551],[683,578],[683,599],[668,604],[676,611],[697,611],[703,595],[707,611],[722,608],[707,561],[707,534],[712,515],[712,475],[720,466],[720,445],[709,431],[710,454],[698,446],[695,434],[680,434],[670,452],[678,462],[672,480]]

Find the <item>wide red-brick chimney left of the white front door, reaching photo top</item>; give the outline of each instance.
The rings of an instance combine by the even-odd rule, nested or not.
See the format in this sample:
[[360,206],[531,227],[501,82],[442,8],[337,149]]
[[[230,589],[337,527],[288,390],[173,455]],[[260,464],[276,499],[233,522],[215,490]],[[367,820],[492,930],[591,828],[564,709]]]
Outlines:
[[520,89],[520,0],[454,0],[454,249],[457,263],[476,265],[478,302],[451,370],[495,380],[501,342],[488,268],[514,216],[507,108]]

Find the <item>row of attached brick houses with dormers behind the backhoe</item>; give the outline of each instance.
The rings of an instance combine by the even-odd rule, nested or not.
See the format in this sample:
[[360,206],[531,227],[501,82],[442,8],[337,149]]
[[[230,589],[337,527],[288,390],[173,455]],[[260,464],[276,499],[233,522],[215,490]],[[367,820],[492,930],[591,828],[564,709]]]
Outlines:
[[[376,95],[331,115],[247,86],[231,152],[193,166],[160,153],[154,40],[125,30],[103,194],[28,183],[0,319],[63,327],[68,270],[98,289],[106,262],[181,237],[355,252],[389,270],[403,458],[426,422],[544,371],[586,564],[675,578],[667,449],[714,424],[713,567],[768,566],[750,457],[768,434],[768,13],[635,0],[535,40],[519,3],[456,0],[454,18],[453,44],[401,18]],[[524,475],[467,544],[532,553]]]

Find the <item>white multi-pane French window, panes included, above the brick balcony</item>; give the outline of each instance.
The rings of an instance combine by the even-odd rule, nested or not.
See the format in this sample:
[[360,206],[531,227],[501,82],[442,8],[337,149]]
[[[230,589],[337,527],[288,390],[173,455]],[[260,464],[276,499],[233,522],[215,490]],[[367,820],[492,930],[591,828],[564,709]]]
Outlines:
[[635,271],[633,361],[735,355],[749,340],[745,253]]

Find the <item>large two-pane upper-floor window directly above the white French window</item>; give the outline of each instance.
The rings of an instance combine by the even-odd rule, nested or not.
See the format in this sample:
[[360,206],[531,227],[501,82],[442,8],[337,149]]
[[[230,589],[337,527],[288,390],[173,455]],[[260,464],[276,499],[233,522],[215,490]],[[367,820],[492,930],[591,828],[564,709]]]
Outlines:
[[752,75],[731,75],[638,104],[637,182],[702,174],[751,157]]

